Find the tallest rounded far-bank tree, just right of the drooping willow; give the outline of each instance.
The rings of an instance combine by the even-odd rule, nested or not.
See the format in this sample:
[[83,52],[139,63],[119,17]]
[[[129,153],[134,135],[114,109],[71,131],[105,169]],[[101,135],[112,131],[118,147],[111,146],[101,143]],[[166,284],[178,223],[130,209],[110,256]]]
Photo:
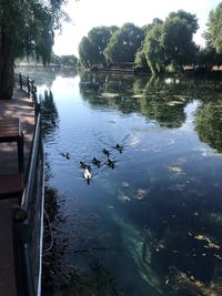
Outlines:
[[198,49],[192,38],[198,28],[194,14],[183,10],[169,14],[162,31],[162,45],[168,64],[182,69],[182,65],[193,63]]

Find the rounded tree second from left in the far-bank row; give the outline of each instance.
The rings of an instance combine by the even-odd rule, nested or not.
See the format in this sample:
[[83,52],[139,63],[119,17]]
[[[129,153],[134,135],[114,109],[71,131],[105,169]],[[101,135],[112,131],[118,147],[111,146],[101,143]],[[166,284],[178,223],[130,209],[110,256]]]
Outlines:
[[113,33],[104,51],[107,62],[133,62],[143,39],[144,32],[142,29],[133,23],[123,24]]

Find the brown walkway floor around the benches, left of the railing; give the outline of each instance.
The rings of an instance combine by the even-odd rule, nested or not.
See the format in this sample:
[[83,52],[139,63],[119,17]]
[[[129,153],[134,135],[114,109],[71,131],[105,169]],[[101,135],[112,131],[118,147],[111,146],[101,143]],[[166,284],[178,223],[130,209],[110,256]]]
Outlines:
[[[19,118],[22,121],[26,173],[34,129],[34,109],[31,99],[23,91],[16,90],[12,100],[0,101],[0,119],[3,118]],[[17,143],[0,143],[0,175],[14,174],[18,170]],[[17,296],[12,212],[18,205],[18,198],[0,200],[0,295],[2,296]]]

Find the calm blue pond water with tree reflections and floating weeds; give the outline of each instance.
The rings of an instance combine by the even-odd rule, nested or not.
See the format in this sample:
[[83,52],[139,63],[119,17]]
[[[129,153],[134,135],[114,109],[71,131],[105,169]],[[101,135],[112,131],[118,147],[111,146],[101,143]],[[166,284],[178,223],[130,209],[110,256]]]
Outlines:
[[49,89],[44,145],[65,196],[65,261],[99,264],[120,295],[221,295],[221,84],[83,73],[56,74]]

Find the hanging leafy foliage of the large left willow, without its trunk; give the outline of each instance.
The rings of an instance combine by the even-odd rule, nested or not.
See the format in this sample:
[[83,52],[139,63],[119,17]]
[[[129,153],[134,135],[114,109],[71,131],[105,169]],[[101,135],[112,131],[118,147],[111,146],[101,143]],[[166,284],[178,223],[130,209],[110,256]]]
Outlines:
[[[65,13],[61,10],[65,0],[1,0],[0,28],[13,43],[14,55],[37,54],[43,63],[50,60],[53,31],[59,29]],[[2,40],[2,39],[1,39]]]

